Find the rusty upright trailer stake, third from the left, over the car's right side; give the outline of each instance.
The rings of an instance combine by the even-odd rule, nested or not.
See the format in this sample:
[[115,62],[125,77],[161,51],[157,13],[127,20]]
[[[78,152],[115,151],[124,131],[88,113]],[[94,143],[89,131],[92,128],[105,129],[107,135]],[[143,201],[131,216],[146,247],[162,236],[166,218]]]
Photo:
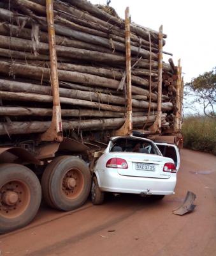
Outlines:
[[157,117],[154,124],[148,129],[151,132],[159,132],[161,129],[161,104],[162,104],[162,33],[163,26],[159,28],[159,52],[158,52],[158,88],[157,88]]

